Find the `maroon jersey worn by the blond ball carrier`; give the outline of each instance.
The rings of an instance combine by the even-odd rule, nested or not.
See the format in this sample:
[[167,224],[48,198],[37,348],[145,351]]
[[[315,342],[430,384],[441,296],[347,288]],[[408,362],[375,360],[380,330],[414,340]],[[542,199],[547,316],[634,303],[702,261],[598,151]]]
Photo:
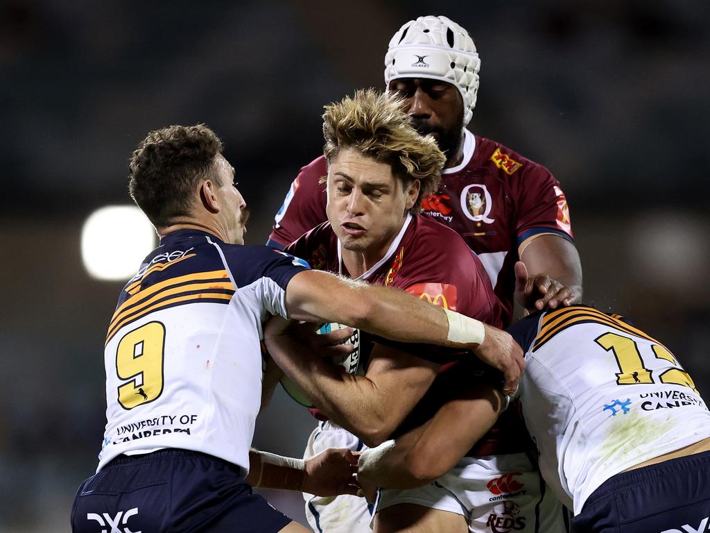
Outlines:
[[[300,239],[290,244],[286,251],[305,259],[313,269],[349,276],[340,260],[340,243],[329,222],[324,222],[302,235]],[[408,216],[385,257],[359,279],[375,285],[402,289],[441,307],[501,327],[500,302],[493,294],[491,281],[484,274],[483,265],[476,254],[471,253],[459,235],[427,217]],[[413,355],[432,360],[437,360],[437,356],[440,355],[438,350],[441,350],[434,346],[412,344],[404,344],[401,348]],[[429,350],[434,357],[429,357],[432,354],[424,353],[422,350]],[[477,364],[475,355],[466,354],[464,357],[467,360],[465,368],[469,369],[465,371],[469,376],[466,379],[476,379],[474,371],[470,370],[471,363],[474,367],[481,367],[481,365]],[[452,364],[464,365],[464,362]],[[450,365],[446,365],[446,368],[450,368]],[[435,387],[435,389],[440,388]],[[442,397],[439,396],[437,402],[432,394],[427,394],[425,402],[417,405],[410,414],[407,426],[414,421],[420,424],[429,419],[432,402],[439,405],[441,399]],[[311,411],[318,419],[326,419],[317,409]],[[507,442],[503,443],[498,437],[501,431],[515,437],[507,438]],[[516,421],[512,423],[501,421],[491,430],[491,434],[481,440],[481,443],[487,443],[486,453],[481,455],[513,453],[509,449],[509,444],[515,446],[515,451],[523,451],[525,449],[523,441],[524,439],[520,438],[520,424]]]

